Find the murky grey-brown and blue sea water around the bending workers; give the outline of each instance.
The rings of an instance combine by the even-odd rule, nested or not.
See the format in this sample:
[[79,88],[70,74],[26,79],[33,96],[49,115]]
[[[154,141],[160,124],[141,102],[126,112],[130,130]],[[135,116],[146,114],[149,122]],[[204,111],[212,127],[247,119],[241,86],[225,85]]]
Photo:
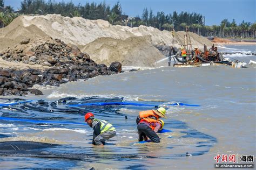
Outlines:
[[[255,46],[225,46],[219,50],[241,51],[244,55],[226,57],[247,63],[256,60],[254,55],[245,54],[255,52]],[[255,155],[255,71],[255,65],[240,69],[228,66],[160,67],[98,76],[60,87],[38,87],[44,96],[23,97],[36,101],[0,108],[1,117],[32,120],[0,119],[0,141],[29,140],[58,146],[8,156],[1,154],[1,168],[213,169],[217,154]],[[164,128],[172,132],[159,134],[159,144],[138,144],[135,121],[138,112],[154,107],[118,105],[74,109],[65,103],[51,106],[68,96],[77,97],[70,101],[78,103],[83,102],[84,97],[100,96],[164,105],[167,108]],[[48,106],[39,105],[38,100],[44,100]],[[6,99],[0,101],[7,102]],[[169,105],[177,102],[200,107]],[[117,136],[104,147],[91,145],[92,129],[84,123],[87,111],[94,112],[97,118],[105,119],[117,129]],[[192,156],[187,157],[187,152]]]

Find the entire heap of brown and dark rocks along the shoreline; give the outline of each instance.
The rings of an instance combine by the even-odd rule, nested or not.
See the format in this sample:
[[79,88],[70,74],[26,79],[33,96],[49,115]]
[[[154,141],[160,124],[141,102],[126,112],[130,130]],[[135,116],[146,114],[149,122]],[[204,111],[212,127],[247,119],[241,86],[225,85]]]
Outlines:
[[82,53],[76,46],[66,45],[59,39],[46,41],[29,51],[9,48],[2,56],[8,61],[51,67],[46,70],[0,68],[0,95],[26,95],[28,91],[35,95],[43,95],[41,91],[29,88],[34,84],[59,86],[61,83],[116,74],[122,70],[119,62],[114,62],[111,67],[98,65],[88,54]]

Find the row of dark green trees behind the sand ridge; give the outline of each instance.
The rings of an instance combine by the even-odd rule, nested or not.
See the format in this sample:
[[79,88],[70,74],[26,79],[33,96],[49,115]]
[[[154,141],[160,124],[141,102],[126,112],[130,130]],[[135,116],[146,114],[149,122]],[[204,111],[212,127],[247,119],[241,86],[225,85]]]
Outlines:
[[152,26],[159,30],[172,29],[176,31],[185,31],[186,26],[189,30],[202,36],[228,37],[228,38],[255,38],[256,23],[242,21],[237,24],[233,19],[229,22],[224,19],[220,25],[207,26],[204,23],[204,17],[196,12],[176,11],[165,14],[163,11],[154,15],[152,9],[145,8],[142,16],[131,17],[125,15],[119,2],[111,6],[102,3],[86,3],[85,5],[75,5],[70,2],[56,3],[54,0],[23,0],[17,12],[11,6],[4,6],[4,0],[0,0],[0,27],[6,26],[12,20],[21,15],[46,15],[60,14],[69,17],[83,17],[85,19],[103,19],[108,20],[112,25],[134,26]]

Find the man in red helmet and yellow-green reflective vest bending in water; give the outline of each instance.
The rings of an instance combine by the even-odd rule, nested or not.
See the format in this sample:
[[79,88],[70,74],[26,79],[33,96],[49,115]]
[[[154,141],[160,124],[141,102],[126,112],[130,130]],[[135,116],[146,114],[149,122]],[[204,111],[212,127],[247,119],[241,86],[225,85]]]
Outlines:
[[105,145],[105,140],[116,136],[117,132],[112,124],[94,118],[92,113],[85,114],[84,118],[85,122],[93,128],[93,145]]

